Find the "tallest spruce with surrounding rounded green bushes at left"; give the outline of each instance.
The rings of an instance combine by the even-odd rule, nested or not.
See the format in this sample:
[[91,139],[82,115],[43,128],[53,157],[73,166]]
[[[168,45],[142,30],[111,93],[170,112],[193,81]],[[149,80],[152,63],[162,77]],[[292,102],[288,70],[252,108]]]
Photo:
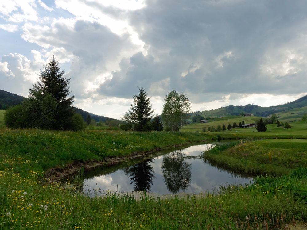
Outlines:
[[40,82],[29,90],[29,96],[20,105],[8,109],[4,121],[9,128],[41,128],[81,130],[83,118],[71,107],[74,96],[64,71],[53,57],[39,74]]

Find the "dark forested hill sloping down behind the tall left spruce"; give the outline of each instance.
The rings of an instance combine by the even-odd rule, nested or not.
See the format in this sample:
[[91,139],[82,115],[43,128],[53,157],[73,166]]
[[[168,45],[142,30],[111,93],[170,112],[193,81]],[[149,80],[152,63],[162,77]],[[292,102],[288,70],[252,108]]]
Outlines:
[[[0,90],[0,110],[6,110],[7,108],[11,106],[18,105],[25,99],[26,99],[25,97],[19,96],[17,94],[13,94],[13,93],[10,93],[4,90]],[[84,111],[82,109],[79,109],[77,107],[73,107],[73,110],[76,113],[80,113],[84,121],[86,121],[88,114],[90,114],[91,118],[96,122],[99,122],[99,121],[102,121],[102,122],[113,121],[113,123],[120,122],[118,119],[99,116],[99,115]]]

